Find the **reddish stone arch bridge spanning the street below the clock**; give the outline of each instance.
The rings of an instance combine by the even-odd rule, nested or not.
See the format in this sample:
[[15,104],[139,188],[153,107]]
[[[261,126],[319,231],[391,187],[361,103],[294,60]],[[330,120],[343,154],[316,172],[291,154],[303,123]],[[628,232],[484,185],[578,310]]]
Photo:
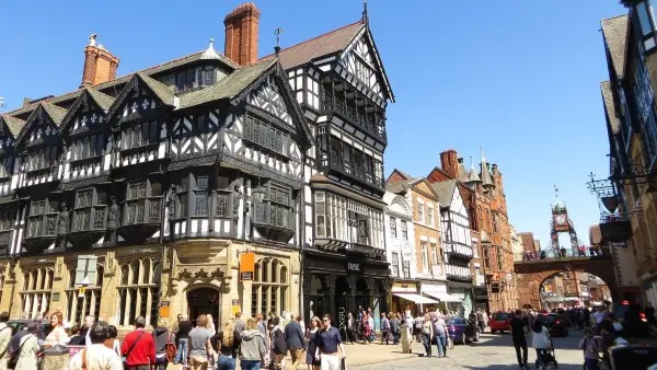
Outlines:
[[534,309],[541,309],[541,285],[551,276],[564,271],[595,275],[607,282],[613,301],[620,302],[622,299],[611,257],[517,261],[514,270],[518,308],[531,304]]

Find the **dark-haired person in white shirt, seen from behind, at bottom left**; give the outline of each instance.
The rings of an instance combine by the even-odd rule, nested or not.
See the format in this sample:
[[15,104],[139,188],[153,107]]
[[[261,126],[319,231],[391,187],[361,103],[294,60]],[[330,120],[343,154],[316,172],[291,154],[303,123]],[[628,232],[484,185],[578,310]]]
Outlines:
[[[87,370],[123,370],[123,362],[118,355],[104,344],[107,338],[108,325],[99,321],[89,329],[91,345],[73,356],[69,362],[69,370],[82,370],[84,361]],[[84,358],[83,358],[84,357]]]

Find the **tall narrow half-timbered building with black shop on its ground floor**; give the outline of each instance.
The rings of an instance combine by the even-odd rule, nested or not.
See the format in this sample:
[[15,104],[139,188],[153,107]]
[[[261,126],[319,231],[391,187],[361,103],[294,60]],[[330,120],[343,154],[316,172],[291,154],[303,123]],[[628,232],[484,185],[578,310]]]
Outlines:
[[390,290],[382,198],[394,96],[367,13],[279,56],[315,138],[303,172],[304,314],[362,305],[379,317]]

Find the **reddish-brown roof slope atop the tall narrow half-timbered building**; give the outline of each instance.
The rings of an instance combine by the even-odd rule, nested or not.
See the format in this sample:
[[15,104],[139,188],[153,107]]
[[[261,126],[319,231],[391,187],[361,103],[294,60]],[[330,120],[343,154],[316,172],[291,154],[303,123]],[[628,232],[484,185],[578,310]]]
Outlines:
[[[306,65],[313,59],[342,51],[349,46],[349,43],[362,27],[365,27],[365,24],[361,21],[358,21],[315,38],[281,49],[279,51],[280,63],[283,65],[283,68],[290,69]],[[272,59],[274,57],[275,55],[268,55],[261,60]]]

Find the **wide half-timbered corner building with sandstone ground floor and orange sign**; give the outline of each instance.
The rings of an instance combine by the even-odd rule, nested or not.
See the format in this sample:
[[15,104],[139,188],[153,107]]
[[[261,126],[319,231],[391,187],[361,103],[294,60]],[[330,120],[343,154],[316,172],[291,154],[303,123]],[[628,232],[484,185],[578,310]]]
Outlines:
[[81,89],[0,116],[0,310],[119,328],[300,312],[312,126],[279,58],[228,49],[115,78],[92,36]]

